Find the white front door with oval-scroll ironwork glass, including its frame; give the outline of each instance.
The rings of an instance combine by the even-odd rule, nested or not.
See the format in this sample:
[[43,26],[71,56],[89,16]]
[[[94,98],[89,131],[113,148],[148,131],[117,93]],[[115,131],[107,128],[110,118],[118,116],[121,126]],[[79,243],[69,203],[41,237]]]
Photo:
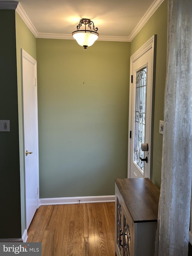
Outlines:
[[128,178],[150,178],[155,38],[131,56]]

